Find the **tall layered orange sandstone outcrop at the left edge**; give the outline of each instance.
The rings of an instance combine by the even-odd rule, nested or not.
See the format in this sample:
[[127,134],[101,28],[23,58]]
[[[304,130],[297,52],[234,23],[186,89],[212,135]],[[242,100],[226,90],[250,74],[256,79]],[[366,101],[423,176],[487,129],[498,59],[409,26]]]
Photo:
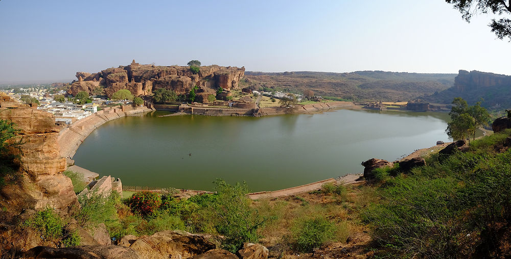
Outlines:
[[8,185],[0,191],[3,196],[0,204],[14,213],[47,206],[67,211],[78,201],[71,179],[61,174],[66,160],[60,157],[57,143],[60,128],[55,125],[55,117],[19,103],[16,106],[0,109],[0,119],[14,122],[19,130],[13,141],[21,143],[14,152],[19,152],[22,177],[17,185]]

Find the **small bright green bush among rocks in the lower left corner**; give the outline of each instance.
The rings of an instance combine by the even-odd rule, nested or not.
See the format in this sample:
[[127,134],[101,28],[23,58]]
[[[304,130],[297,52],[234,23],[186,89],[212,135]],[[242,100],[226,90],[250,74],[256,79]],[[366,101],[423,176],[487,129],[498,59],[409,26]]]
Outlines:
[[41,234],[41,238],[64,247],[77,246],[80,237],[76,231],[69,230],[68,223],[64,222],[51,208],[37,212],[32,218],[23,223]]

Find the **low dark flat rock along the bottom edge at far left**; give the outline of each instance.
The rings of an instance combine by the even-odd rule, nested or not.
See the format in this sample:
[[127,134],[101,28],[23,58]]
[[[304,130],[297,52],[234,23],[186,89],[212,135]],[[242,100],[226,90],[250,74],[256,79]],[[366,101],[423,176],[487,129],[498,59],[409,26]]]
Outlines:
[[140,257],[135,253],[135,251],[127,247],[115,245],[94,245],[66,248],[37,246],[28,250],[23,255],[23,258],[137,259]]

